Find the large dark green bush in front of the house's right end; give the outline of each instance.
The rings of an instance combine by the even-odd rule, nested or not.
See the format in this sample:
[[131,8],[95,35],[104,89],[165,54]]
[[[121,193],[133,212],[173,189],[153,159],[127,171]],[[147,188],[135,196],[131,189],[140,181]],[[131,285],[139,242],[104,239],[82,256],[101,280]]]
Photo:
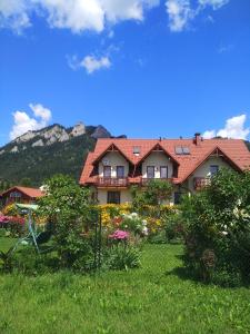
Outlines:
[[219,171],[209,187],[183,198],[182,218],[187,267],[223,285],[250,277],[249,171]]

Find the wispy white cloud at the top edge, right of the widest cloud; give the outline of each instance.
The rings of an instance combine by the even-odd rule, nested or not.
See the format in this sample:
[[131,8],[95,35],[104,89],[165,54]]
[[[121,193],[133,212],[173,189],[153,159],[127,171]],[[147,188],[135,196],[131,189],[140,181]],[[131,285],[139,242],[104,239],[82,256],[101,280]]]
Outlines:
[[[198,0],[196,8],[191,7],[190,0],[167,0],[166,9],[169,16],[171,31],[183,31],[202,10],[211,7],[218,10],[230,0]],[[211,16],[209,16],[211,18]]]

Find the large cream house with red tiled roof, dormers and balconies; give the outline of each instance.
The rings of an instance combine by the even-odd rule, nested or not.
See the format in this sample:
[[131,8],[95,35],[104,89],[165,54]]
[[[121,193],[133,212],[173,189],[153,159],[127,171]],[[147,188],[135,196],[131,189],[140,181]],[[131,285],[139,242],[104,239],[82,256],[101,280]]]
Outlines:
[[240,139],[99,139],[89,153],[80,185],[91,187],[100,204],[130,203],[130,187],[151,179],[173,184],[171,203],[208,185],[221,167],[242,171],[250,153]]

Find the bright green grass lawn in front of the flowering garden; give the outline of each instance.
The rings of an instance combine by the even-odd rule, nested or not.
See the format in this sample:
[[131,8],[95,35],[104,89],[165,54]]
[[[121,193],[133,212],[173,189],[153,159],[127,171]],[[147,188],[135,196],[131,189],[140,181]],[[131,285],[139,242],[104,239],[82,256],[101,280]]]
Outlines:
[[250,289],[179,277],[181,253],[147,245],[140,269],[97,276],[0,275],[0,333],[250,333]]

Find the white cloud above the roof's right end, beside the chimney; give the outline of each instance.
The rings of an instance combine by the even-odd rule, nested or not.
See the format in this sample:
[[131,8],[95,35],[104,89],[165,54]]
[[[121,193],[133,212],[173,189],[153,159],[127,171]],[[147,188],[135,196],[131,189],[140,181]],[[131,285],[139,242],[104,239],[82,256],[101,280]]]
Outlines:
[[226,121],[224,128],[204,131],[203,138],[224,137],[234,139],[247,139],[250,129],[246,127],[247,115],[234,116]]

